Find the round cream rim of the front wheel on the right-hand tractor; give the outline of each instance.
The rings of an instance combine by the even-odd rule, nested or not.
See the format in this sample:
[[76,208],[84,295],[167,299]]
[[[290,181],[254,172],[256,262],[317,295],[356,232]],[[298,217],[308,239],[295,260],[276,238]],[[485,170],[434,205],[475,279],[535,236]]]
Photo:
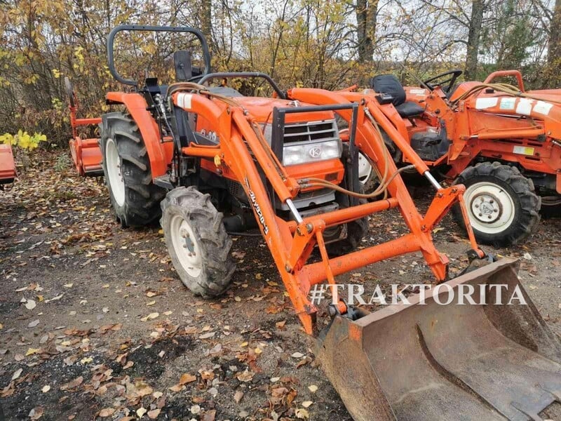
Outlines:
[[464,194],[471,226],[480,232],[497,234],[511,226],[515,203],[505,189],[492,182],[476,182]]

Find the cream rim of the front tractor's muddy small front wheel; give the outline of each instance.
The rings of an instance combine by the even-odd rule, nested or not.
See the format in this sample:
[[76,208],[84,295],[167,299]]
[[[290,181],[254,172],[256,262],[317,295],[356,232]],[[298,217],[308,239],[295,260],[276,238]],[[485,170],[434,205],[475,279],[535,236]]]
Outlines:
[[170,234],[177,260],[189,276],[196,278],[201,274],[203,258],[191,225],[181,215],[175,215],[170,223]]

